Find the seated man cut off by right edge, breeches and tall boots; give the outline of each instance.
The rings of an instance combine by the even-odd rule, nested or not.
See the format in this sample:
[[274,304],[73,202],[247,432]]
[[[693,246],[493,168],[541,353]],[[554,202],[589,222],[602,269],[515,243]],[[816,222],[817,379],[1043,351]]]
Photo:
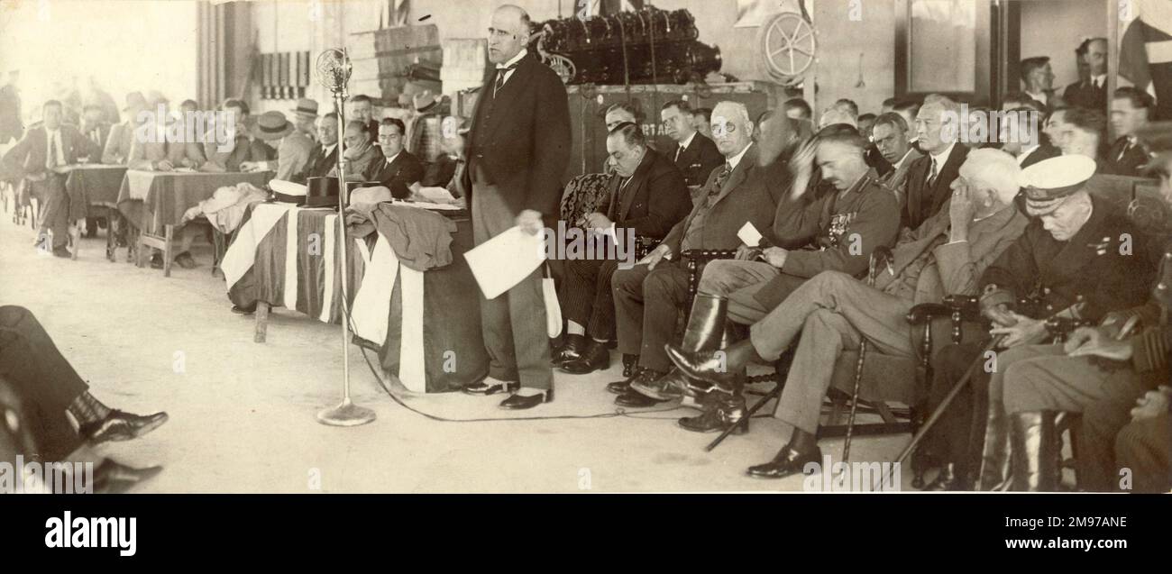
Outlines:
[[[1157,166],[1161,171],[1160,190],[1165,201],[1172,200],[1172,185],[1166,171],[1172,166],[1172,124],[1153,125],[1140,134],[1144,144],[1159,153],[1156,163],[1160,164]],[[1056,453],[1044,449],[1055,444],[1054,415],[1063,411],[1084,412],[1077,457],[1081,488],[1167,488],[1172,479],[1167,466],[1167,436],[1146,436],[1161,428],[1160,412],[1139,417],[1126,433],[1120,433],[1120,429],[1133,418],[1133,410],[1159,410],[1149,403],[1163,402],[1163,415],[1165,419],[1167,417],[1167,396],[1157,389],[1167,384],[1167,355],[1172,349],[1168,344],[1172,330],[1161,321],[1172,303],[1168,289],[1172,285],[1172,242],[1166,242],[1159,253],[1160,269],[1145,305],[1112,314],[1103,326],[1076,330],[1064,346],[1065,354],[1023,360],[1006,371],[1003,405],[1006,412],[1014,417],[1013,430],[1017,431],[1018,426],[1023,430],[1036,428],[1043,438],[1036,445],[1043,449],[1041,456],[1034,452],[1033,443],[1023,443],[1020,437],[1013,443],[1015,486],[1031,490],[1054,490],[1056,486],[1051,480],[1057,472],[1052,465]],[[1129,322],[1138,327],[1127,329]],[[1137,402],[1140,406],[1133,409]],[[1120,445],[1124,457],[1146,450],[1157,459],[1159,447],[1153,446],[1164,445],[1163,469],[1159,465],[1151,469],[1143,460],[1137,462],[1138,467],[1131,466],[1132,462],[1118,460],[1116,455]],[[1018,465],[1020,462],[1031,466]],[[1129,469],[1130,473],[1124,469]],[[1023,476],[1021,484],[1016,480],[1018,474]]]

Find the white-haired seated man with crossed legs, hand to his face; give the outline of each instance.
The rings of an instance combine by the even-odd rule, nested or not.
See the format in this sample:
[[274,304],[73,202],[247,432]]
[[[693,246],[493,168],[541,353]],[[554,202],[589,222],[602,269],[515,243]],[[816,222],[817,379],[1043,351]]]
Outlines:
[[[819,273],[755,323],[748,340],[723,350],[727,373],[736,373],[751,360],[776,361],[797,344],[774,412],[793,425],[793,432],[772,462],[749,469],[749,474],[782,478],[822,458],[818,416],[844,350],[857,349],[865,340],[872,353],[914,358],[918,349],[906,319],[912,307],[939,303],[948,294],[976,293],[984,267],[1026,228],[1026,216],[1014,205],[1018,175],[1008,153],[973,151],[953,182],[946,209],[892,250],[891,267],[877,276],[874,287],[846,273]],[[715,351],[673,349],[669,355],[684,373],[701,375],[723,391],[703,416],[681,419],[681,426],[720,430],[744,416],[744,398],[735,392],[734,377],[704,364]]]

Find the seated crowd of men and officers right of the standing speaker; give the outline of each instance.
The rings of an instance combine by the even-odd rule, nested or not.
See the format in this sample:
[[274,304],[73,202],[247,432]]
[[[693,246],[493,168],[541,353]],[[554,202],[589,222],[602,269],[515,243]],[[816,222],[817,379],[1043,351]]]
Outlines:
[[[1071,425],[1079,488],[1166,491],[1172,347],[1161,310],[1172,245],[1102,197],[1097,176],[1144,177],[1172,148],[1172,129],[1153,129],[1154,104],[1140,90],[1064,103],[1026,80],[1036,76],[1030,68],[1028,89],[1004,98],[996,111],[1008,119],[983,142],[961,137],[960,115],[975,122],[994,110],[943,95],[863,115],[839,100],[817,118],[800,98],[756,119],[721,102],[703,116],[707,134],[686,102],[669,102],[668,149],[648,141],[636,107],[612,105],[609,185],[570,224],[657,246],[631,268],[567,262],[553,364],[590,374],[616,348],[624,378],[606,385],[616,404],[682,401],[701,412],[681,428],[737,433],[749,429],[747,368],[775,365],[774,416],[792,430],[747,472],[782,478],[822,459],[820,417],[841,354],[866,341],[870,353],[917,360],[908,312],[963,295],[987,333],[941,346],[914,406],[936,408],[986,348],[999,368],[966,380],[970,390],[931,430],[924,449],[940,470],[929,490],[1058,490],[1056,415],[1065,412],[1082,414]],[[1108,105],[1115,142],[1105,141]],[[1010,123],[1027,131],[1011,135]],[[691,201],[681,210],[683,193]],[[747,226],[759,240],[745,239]],[[683,258],[694,250],[735,255],[703,265],[689,294]],[[878,271],[873,254],[886,260]]]

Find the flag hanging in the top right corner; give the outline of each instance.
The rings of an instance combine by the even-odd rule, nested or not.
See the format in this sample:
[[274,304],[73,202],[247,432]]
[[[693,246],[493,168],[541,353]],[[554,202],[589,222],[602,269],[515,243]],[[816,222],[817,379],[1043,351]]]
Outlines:
[[1157,118],[1172,118],[1172,2],[1120,2],[1119,28],[1119,76],[1156,96]]

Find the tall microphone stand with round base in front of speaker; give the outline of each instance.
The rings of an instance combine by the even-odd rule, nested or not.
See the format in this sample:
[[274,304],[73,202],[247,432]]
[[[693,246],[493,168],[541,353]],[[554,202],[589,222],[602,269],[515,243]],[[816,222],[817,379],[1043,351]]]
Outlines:
[[[345,49],[342,50],[343,59],[346,57]],[[338,112],[338,230],[340,237],[341,247],[341,272],[342,272],[342,402],[336,406],[328,409],[322,409],[318,412],[318,422],[321,424],[328,424],[331,426],[359,426],[362,424],[370,423],[375,419],[375,414],[373,410],[366,406],[359,406],[350,401],[350,302],[347,296],[347,282],[349,274],[349,264],[347,260],[347,248],[346,244],[349,242],[349,238],[346,235],[346,205],[349,203],[349,193],[346,187],[346,163],[342,160],[346,152],[346,114],[343,103],[346,102],[346,71],[343,69],[334,69],[333,78],[331,78],[329,91],[334,95],[334,111]],[[329,233],[334,233],[334,230],[329,230]],[[326,278],[327,281],[332,281],[332,278]]]

